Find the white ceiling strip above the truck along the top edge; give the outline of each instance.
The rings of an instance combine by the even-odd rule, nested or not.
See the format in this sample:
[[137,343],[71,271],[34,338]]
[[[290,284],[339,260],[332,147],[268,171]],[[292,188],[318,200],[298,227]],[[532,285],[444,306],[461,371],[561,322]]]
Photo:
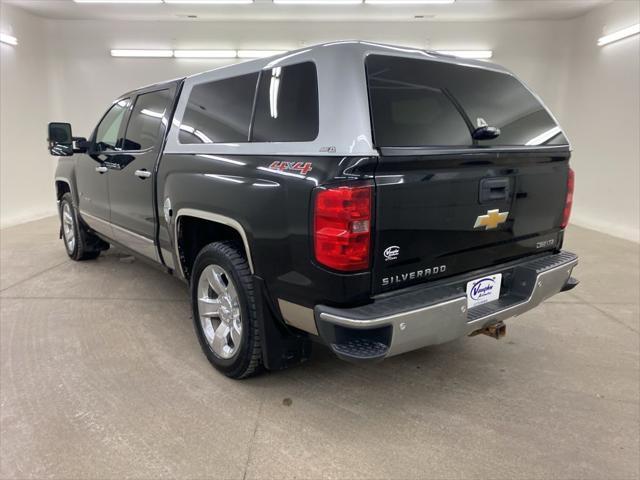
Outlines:
[[[76,20],[492,21],[567,19],[612,0],[457,0],[444,5],[77,4],[73,0],[0,0],[36,15]],[[189,18],[196,15],[197,18]],[[423,16],[423,18],[415,18]]]

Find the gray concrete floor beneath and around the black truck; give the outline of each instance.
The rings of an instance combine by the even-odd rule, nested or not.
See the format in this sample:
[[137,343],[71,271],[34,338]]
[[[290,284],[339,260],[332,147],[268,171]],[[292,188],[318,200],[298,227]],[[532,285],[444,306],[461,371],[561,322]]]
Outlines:
[[1,232],[2,478],[638,478],[638,245],[572,228],[573,292],[376,365],[213,370],[186,287],[46,219]]

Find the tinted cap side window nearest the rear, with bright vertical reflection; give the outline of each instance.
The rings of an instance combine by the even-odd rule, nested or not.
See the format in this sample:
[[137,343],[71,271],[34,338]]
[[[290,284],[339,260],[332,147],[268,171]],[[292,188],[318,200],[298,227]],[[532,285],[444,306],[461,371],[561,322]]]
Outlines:
[[263,70],[251,140],[306,142],[318,136],[318,79],[311,62]]

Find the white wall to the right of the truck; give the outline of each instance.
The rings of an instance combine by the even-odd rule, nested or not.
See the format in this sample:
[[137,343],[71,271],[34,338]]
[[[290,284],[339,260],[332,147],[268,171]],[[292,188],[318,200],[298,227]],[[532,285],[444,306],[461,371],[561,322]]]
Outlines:
[[640,36],[599,47],[598,37],[638,23],[623,1],[573,21],[569,81],[560,108],[576,171],[574,223],[638,241]]

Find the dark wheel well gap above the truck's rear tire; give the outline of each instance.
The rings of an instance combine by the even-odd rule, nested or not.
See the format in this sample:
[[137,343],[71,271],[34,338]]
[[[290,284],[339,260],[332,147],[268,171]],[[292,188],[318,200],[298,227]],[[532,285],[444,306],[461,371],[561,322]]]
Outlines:
[[240,232],[222,223],[203,218],[181,216],[178,218],[178,252],[185,278],[191,276],[196,256],[205,245],[212,242],[233,241],[242,255],[247,258]]

